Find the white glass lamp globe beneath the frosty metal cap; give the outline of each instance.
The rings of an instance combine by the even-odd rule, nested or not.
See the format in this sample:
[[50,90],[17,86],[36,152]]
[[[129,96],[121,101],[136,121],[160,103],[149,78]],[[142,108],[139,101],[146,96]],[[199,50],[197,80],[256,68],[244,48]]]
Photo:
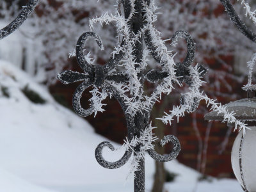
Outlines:
[[234,141],[231,154],[233,171],[241,186],[249,192],[256,192],[256,127],[250,127],[243,136],[240,131]]

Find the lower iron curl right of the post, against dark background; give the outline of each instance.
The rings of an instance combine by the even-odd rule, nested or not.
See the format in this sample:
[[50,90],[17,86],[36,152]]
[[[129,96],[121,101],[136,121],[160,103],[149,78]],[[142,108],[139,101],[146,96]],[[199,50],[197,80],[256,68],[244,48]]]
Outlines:
[[147,150],[150,157],[152,157],[154,160],[159,162],[168,162],[175,159],[180,152],[180,142],[175,136],[167,135],[167,136],[164,136],[163,140],[161,140],[161,145],[163,146],[168,142],[173,143],[173,150],[170,154],[160,155],[155,150],[151,149],[151,150]]

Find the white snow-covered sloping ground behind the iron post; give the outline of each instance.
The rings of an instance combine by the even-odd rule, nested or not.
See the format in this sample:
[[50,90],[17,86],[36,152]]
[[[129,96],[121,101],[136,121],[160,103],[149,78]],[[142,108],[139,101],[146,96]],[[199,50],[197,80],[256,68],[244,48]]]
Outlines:
[[[125,181],[129,163],[117,170],[102,168],[94,150],[106,138],[95,134],[86,120],[60,106],[46,88],[33,82],[11,63],[0,61],[0,191],[133,191],[132,180]],[[45,104],[31,102],[22,92],[26,86]],[[107,160],[121,156],[122,152],[104,151]],[[154,161],[148,156],[145,161],[150,191]],[[166,169],[178,175],[174,182],[166,183],[166,191],[242,191],[232,179],[198,182],[200,174],[178,161],[166,163]]]

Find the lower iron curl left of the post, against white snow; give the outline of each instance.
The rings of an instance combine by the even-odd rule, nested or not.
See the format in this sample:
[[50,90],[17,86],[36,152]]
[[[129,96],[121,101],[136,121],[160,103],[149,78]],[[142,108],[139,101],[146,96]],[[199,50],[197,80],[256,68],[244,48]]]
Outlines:
[[115,150],[114,146],[109,143],[108,141],[104,141],[102,143],[100,143],[96,150],[95,150],[95,157],[96,157],[96,160],[98,161],[98,163],[104,167],[104,168],[108,168],[108,169],[116,169],[116,168],[120,168],[121,166],[123,166],[125,163],[127,163],[127,161],[130,159],[130,157],[132,156],[132,149],[129,148],[128,150],[125,151],[125,154],[124,156],[119,159],[118,161],[116,162],[109,162],[109,161],[106,161],[104,159],[104,157],[102,157],[102,149],[104,147],[108,147],[110,148],[112,151]]

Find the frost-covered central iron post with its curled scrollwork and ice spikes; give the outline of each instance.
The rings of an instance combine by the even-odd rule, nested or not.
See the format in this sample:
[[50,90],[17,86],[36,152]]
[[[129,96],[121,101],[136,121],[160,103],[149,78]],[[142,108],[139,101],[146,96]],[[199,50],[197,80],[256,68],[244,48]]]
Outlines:
[[[83,73],[67,70],[58,75],[58,79],[64,83],[82,81],[74,93],[73,107],[81,116],[92,115],[102,109],[102,100],[106,97],[115,97],[122,106],[127,120],[128,136],[123,148],[124,156],[116,161],[109,162],[102,156],[102,149],[108,147],[115,150],[109,142],[102,142],[95,150],[98,163],[104,168],[119,168],[131,160],[134,173],[134,191],[145,191],[144,156],[148,153],[156,161],[166,162],[175,159],[180,152],[179,140],[172,135],[165,136],[161,145],[173,143],[170,154],[160,155],[154,150],[152,144],[157,138],[152,133],[154,127],[150,123],[150,113],[154,104],[161,100],[162,94],[170,94],[173,84],[186,83],[191,89],[198,90],[194,74],[204,76],[207,72],[202,65],[192,67],[195,58],[195,43],[187,31],[177,31],[172,37],[174,46],[179,38],[184,38],[188,44],[188,54],[185,60],[175,64],[172,52],[166,49],[164,41],[159,36],[159,31],[154,28],[157,10],[154,1],[123,0],[118,1],[116,15],[96,17],[90,20],[90,27],[97,22],[100,24],[116,22],[120,44],[111,54],[110,60],[105,65],[93,63],[89,54],[84,53],[86,40],[95,40],[99,49],[104,49],[102,40],[93,32],[86,32],[77,41],[76,58]],[[122,8],[124,10],[122,10]],[[143,43],[145,42],[145,44]],[[147,57],[152,56],[157,63],[157,69],[149,69]],[[144,92],[144,83],[155,83],[154,92],[147,95]],[[93,97],[90,99],[90,107],[84,109],[81,106],[83,92],[92,87],[90,91]],[[181,105],[186,106],[184,112],[194,111],[198,104],[198,97],[190,99],[188,95],[180,97]],[[132,157],[132,158],[131,158]]]

